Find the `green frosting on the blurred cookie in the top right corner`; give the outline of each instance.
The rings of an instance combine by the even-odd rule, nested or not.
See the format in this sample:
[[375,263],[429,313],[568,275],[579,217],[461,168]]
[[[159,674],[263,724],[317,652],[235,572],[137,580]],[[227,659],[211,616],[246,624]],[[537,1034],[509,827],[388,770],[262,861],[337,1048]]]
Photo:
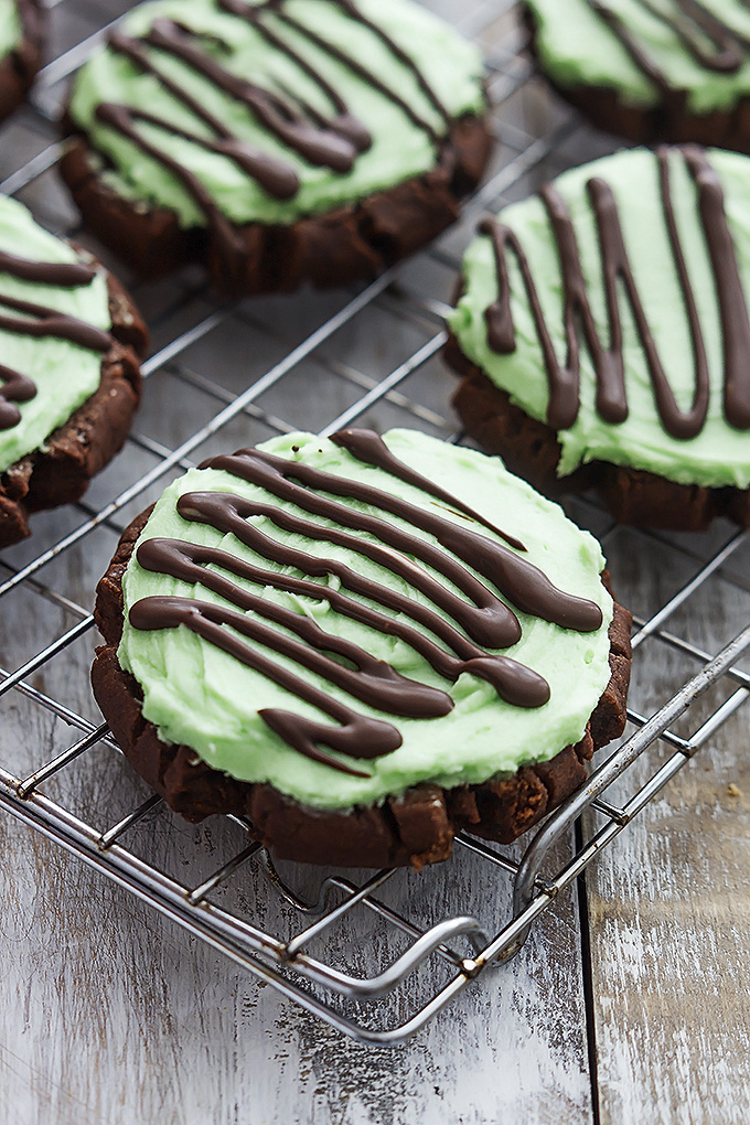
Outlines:
[[[599,86],[614,89],[622,101],[639,108],[657,106],[661,92],[634,63],[623,43],[606,26],[588,0],[525,0],[537,26],[536,52],[543,69],[562,87]],[[650,0],[667,17],[685,17],[674,0]],[[674,28],[649,11],[644,0],[606,0],[605,7],[620,17],[649,61],[675,90],[687,94],[688,109],[708,114],[729,109],[750,93],[750,55],[733,73],[708,70],[686,51]],[[701,7],[746,39],[750,38],[750,9],[743,0],[702,0]],[[698,4],[695,6],[696,10]],[[687,25],[693,35],[695,24]],[[707,38],[696,38],[710,55],[716,47]]]

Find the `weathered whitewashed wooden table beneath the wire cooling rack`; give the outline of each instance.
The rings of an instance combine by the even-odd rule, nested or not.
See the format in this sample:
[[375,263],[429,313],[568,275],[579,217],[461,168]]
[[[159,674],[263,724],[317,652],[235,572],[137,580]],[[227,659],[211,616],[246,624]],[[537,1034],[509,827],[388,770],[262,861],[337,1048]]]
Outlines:
[[[51,12],[53,55],[126,7],[123,0],[57,3]],[[500,176],[496,187],[508,198],[526,194],[563,165],[614,147],[550,104],[535,81],[526,81],[526,63],[506,50],[513,33],[501,0],[443,0],[430,7],[461,19],[470,32],[490,19],[482,38],[495,66],[491,86],[501,102],[503,142],[494,172]],[[0,147],[6,183],[15,169],[42,154],[35,165],[40,174],[29,178],[19,198],[54,230],[74,223],[54,171],[43,170],[54,137],[44,115],[60,100],[53,79],[64,69],[47,72],[37,111],[17,115],[3,129]],[[535,160],[528,160],[524,176],[518,158],[530,145],[536,145]],[[372,380],[397,370],[439,331],[434,314],[449,299],[452,262],[469,233],[463,224],[440,241],[436,253],[407,264],[398,289],[352,318],[200,452],[268,436],[274,418],[323,426]],[[217,310],[193,277],[136,291],[156,324],[156,349]],[[427,305],[419,305],[425,295]],[[268,371],[351,297],[305,294],[296,303],[264,299],[223,310],[214,331],[181,349],[174,359],[179,368],[159,368],[150,376],[136,441],[93,485],[85,503],[39,516],[33,542],[6,552],[0,579],[81,524],[156,464],[164,449],[177,448],[222,406],[217,395],[227,398],[244,389],[249,371],[251,378]],[[207,388],[208,377],[216,384]],[[450,377],[431,359],[364,417],[379,429],[406,417],[446,436],[453,426],[450,387]],[[117,528],[160,488],[3,598],[4,668],[24,664],[90,609]],[[722,525],[702,537],[643,536],[613,530],[586,505],[577,505],[575,514],[605,536],[621,600],[643,619],[690,583],[733,534]],[[665,629],[717,651],[750,620],[749,560],[742,540]],[[93,644],[89,630],[28,683],[96,722],[88,687]],[[647,640],[635,662],[633,708],[649,714],[698,667],[662,639]],[[732,690],[723,686],[701,700],[686,726],[676,729],[695,730]],[[1,760],[19,777],[73,740],[66,723],[39,699],[10,692],[2,709]],[[0,1120],[746,1125],[749,717],[749,709],[740,709],[716,730],[588,868],[585,885],[559,898],[510,964],[486,972],[415,1038],[395,1048],[368,1048],[342,1037],[126,890],[0,814],[6,903],[0,912]],[[654,757],[665,753],[663,746],[654,748],[636,772],[645,777]],[[106,748],[90,752],[45,791],[102,827],[147,795]],[[190,866],[198,875],[217,865],[227,837],[236,842],[238,829],[218,820],[192,828],[155,811],[135,837],[129,845],[156,866],[174,873]],[[290,878],[310,890],[320,876]],[[433,921],[470,907],[488,926],[500,925],[509,901],[507,881],[488,878],[486,865],[468,853],[441,871],[399,874],[390,890],[395,907]],[[254,866],[235,876],[232,893],[259,925],[290,925],[288,908]],[[359,956],[367,963],[370,945],[385,940],[379,933],[359,915],[346,922],[341,940],[351,944],[353,963]],[[385,961],[397,952],[397,945],[378,951]]]

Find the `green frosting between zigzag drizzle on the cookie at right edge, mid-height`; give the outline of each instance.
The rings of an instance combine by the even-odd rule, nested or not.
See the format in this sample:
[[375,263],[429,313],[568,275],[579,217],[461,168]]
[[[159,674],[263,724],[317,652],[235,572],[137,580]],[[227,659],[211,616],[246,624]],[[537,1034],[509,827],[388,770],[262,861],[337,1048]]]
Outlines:
[[[713,169],[721,178],[725,212],[734,241],[740,276],[750,292],[750,160],[711,150]],[[750,485],[750,433],[730,426],[723,412],[722,332],[706,240],[696,206],[696,188],[677,150],[669,160],[671,195],[680,242],[696,296],[711,376],[708,416],[702,432],[688,441],[670,436],[656,410],[643,350],[630,305],[620,291],[623,354],[630,414],[609,425],[595,410],[595,376],[589,351],[579,330],[581,404],[578,418],[558,439],[562,456],[560,476],[591,460],[627,465],[676,480],[710,487]],[[695,388],[693,349],[685,302],[679,288],[665,224],[653,153],[622,152],[566,172],[555,187],[575,224],[587,291],[600,340],[609,339],[602,258],[594,212],[586,192],[593,177],[602,177],[614,191],[625,245],[659,356],[676,399],[687,410]],[[542,201],[534,197],[507,207],[501,220],[516,232],[528,256],[555,353],[566,359],[562,286],[557,244]],[[461,350],[527,414],[546,420],[548,381],[539,336],[515,255],[507,254],[516,350],[500,356],[487,342],[485,310],[497,296],[497,270],[491,241],[478,237],[463,262],[464,294],[450,317]]]

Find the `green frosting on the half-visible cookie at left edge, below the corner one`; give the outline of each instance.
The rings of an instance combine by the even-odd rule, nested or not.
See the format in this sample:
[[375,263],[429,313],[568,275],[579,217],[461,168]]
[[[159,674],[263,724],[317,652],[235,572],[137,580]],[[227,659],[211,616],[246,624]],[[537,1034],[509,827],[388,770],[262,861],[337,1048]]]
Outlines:
[[[76,262],[75,251],[43,231],[21,204],[0,196],[0,250],[37,262]],[[0,269],[0,314],[3,297],[54,308],[96,327],[111,327],[107,282],[97,274],[75,289],[18,281]],[[10,315],[18,315],[10,313]],[[18,403],[20,422],[0,430],[0,471],[44,446],[53,430],[66,422],[89,398],[101,379],[101,356],[53,336],[34,339],[0,327],[0,362],[28,376],[37,393]]]

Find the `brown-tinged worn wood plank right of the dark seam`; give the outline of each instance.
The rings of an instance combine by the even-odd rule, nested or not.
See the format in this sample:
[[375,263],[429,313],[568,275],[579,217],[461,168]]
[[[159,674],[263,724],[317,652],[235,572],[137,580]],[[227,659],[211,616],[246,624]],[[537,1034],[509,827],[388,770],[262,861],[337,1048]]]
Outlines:
[[[697,537],[684,541],[690,538],[701,549]],[[638,539],[620,532],[611,551],[638,557]],[[730,568],[746,586],[747,561],[744,549]],[[641,602],[663,600],[671,593],[666,583],[676,588],[697,569],[653,544],[649,564],[633,576]],[[627,586],[625,575],[620,585]],[[748,594],[720,577],[674,626],[717,651],[749,615]],[[647,648],[632,699],[648,713],[674,690],[678,664],[665,659],[658,641]],[[717,699],[702,700],[678,734],[697,729]],[[749,734],[746,706],[587,874],[605,1125],[748,1120]],[[645,765],[639,764],[641,778]]]

